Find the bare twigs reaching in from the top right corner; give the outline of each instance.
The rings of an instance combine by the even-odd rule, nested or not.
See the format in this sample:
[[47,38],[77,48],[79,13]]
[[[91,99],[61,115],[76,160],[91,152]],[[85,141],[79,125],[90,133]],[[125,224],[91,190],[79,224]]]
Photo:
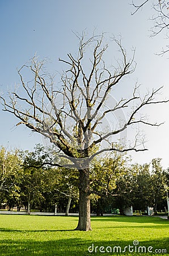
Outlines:
[[[132,15],[136,14],[138,10],[142,9],[150,0],[143,1],[142,3],[136,4],[137,1],[132,1],[134,6],[134,11]],[[140,1],[139,1],[140,2]],[[167,0],[156,0],[153,3],[153,9],[155,14],[151,18],[154,25],[151,28],[151,36],[156,36],[162,31],[167,31],[169,28],[169,1]],[[166,32],[166,39],[168,39],[168,34]],[[164,53],[169,52],[169,46],[162,48],[162,51],[158,55],[163,55]]]

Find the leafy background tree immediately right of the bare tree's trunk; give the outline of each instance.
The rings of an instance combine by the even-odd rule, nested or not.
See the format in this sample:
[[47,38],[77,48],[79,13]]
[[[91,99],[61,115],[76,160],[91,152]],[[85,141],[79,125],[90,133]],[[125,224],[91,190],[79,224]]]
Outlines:
[[111,212],[113,197],[117,196],[114,193],[116,181],[124,174],[127,163],[126,153],[117,151],[93,162],[90,176],[92,208],[98,216],[105,211]]

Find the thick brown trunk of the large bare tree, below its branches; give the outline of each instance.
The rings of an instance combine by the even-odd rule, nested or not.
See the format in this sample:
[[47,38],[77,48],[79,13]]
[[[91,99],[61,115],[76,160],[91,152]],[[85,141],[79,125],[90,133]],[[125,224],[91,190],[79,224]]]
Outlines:
[[79,170],[79,221],[76,230],[91,229],[89,170]]

